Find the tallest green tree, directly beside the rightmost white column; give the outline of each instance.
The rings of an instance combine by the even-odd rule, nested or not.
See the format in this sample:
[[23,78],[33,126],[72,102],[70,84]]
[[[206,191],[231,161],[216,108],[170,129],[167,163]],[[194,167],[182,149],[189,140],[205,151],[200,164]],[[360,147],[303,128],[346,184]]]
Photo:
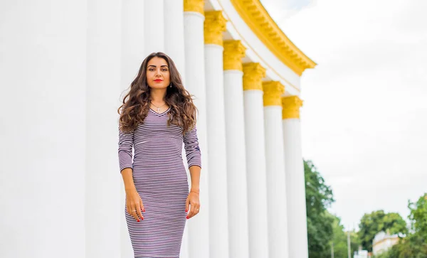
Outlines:
[[327,208],[334,202],[332,189],[325,184],[312,161],[304,161],[307,237],[310,258],[330,254],[334,217]]

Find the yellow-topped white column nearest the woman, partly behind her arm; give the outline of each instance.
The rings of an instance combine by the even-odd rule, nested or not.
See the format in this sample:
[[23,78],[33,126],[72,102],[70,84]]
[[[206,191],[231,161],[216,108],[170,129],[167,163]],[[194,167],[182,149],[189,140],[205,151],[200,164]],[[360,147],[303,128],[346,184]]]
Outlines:
[[206,125],[206,85],[204,68],[204,1],[184,1],[184,51],[186,89],[194,95],[199,109],[197,131],[201,149],[200,213],[187,220],[189,257],[209,257],[209,159]]

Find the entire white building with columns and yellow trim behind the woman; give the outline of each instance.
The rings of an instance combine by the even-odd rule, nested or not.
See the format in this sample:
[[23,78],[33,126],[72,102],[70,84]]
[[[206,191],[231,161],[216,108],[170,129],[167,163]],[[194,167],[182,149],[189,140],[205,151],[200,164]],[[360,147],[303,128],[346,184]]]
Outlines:
[[315,63],[259,0],[4,1],[0,16],[0,257],[133,257],[117,108],[159,51],[199,109],[181,257],[308,257],[299,95]]

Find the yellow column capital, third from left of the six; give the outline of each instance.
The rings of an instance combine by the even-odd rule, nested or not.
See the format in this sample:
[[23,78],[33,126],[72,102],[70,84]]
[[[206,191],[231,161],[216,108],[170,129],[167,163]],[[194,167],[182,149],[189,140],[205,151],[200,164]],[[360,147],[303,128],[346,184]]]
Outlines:
[[242,58],[246,48],[241,41],[224,41],[223,67],[224,70],[243,71]]

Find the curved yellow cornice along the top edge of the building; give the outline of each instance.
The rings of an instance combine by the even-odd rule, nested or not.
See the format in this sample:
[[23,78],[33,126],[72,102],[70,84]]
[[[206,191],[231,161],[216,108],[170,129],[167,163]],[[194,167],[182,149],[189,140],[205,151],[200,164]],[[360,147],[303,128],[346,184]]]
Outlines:
[[297,75],[316,63],[280,30],[259,0],[230,0],[234,9],[270,51]]

